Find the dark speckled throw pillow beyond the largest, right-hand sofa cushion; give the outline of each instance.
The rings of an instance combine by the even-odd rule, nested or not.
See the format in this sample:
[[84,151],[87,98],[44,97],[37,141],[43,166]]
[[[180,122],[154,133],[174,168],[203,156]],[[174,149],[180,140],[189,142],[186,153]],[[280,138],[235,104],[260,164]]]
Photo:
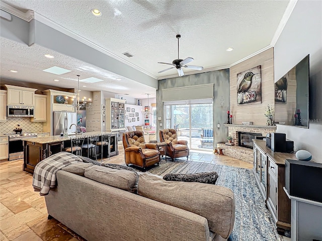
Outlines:
[[163,179],[166,181],[202,182],[216,184],[218,174],[216,172],[201,172],[194,174],[167,173]]

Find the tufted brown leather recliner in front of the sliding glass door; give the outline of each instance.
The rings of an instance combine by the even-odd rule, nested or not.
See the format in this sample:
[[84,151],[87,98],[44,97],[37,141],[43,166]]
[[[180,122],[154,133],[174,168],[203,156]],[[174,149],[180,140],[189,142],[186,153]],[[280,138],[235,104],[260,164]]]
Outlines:
[[167,142],[167,156],[171,157],[172,161],[176,157],[189,157],[188,142],[178,140],[177,131],[175,129],[160,130],[160,142]]

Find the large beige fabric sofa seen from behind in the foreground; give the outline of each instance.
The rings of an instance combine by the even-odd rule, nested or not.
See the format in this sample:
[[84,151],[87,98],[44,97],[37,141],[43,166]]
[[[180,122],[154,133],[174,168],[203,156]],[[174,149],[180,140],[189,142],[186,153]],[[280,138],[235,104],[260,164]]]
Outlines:
[[45,196],[48,214],[88,241],[226,240],[233,228],[233,193],[222,186],[89,163],[56,179]]

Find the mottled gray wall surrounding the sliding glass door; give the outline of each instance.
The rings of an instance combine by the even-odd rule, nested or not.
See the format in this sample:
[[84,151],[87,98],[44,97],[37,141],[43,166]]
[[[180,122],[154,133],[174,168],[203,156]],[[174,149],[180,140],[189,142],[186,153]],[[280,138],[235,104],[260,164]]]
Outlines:
[[[214,83],[214,99],[213,99],[213,130],[214,130],[214,144],[218,142],[226,142],[228,136],[228,128],[223,124],[227,123],[227,110],[229,109],[229,69],[216,70],[200,74],[186,75],[171,79],[163,79],[158,81],[158,89],[156,90],[156,115],[161,117],[162,121],[157,121],[157,140],[158,131],[164,129],[159,126],[159,123],[164,123],[164,104],[162,102],[162,89],[174,88],[198,84]],[[221,107],[220,98],[224,98],[224,105]],[[189,96],[187,96],[189,99]],[[220,124],[220,128],[217,128]],[[214,145],[216,146],[216,145]]]

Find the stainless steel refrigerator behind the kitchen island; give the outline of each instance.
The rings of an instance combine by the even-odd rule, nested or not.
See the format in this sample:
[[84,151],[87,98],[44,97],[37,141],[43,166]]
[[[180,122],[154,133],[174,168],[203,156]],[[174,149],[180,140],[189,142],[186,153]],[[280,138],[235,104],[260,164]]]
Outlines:
[[76,126],[72,126],[69,129],[71,124],[77,125],[77,113],[76,112],[62,112],[54,111],[53,112],[53,135],[60,135],[61,132],[64,134],[72,134],[76,132]]

